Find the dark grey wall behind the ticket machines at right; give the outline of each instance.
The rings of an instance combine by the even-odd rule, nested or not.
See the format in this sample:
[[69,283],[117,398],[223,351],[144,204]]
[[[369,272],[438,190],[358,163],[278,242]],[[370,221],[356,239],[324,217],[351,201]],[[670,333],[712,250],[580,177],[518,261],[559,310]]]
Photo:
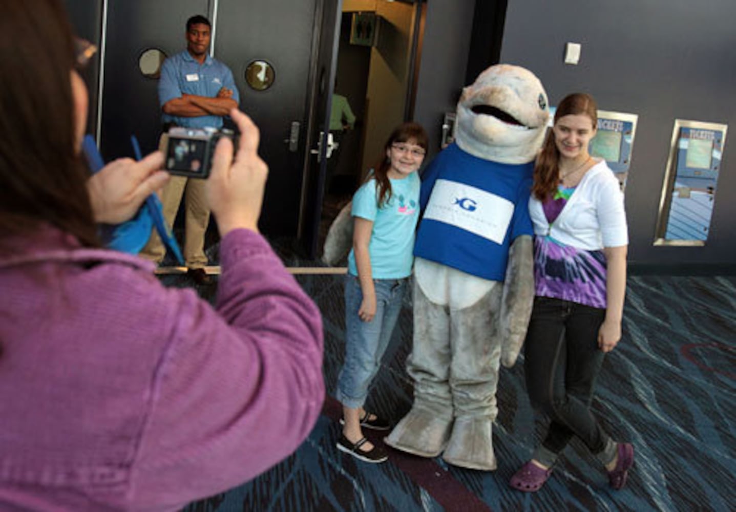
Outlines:
[[[626,185],[629,260],[640,266],[736,264],[736,2],[509,1],[501,62],[534,71],[551,104],[591,93],[601,110],[639,115]],[[565,43],[581,43],[565,65]],[[652,246],[676,118],[729,124],[704,247]]]

